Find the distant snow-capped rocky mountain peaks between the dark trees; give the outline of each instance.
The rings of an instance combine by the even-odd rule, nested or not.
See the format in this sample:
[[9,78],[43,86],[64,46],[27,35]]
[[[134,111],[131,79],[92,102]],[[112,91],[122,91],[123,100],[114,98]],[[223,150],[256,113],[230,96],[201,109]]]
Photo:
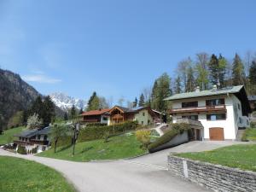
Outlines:
[[67,110],[74,105],[76,108],[86,108],[87,102],[82,99],[76,99],[71,96],[67,96],[64,93],[52,93],[49,95],[52,101],[61,109]]

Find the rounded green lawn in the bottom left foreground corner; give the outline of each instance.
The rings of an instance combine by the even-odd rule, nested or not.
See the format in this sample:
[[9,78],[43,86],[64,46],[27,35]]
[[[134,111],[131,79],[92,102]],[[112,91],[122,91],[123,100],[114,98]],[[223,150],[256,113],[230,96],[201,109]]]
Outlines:
[[30,160],[0,156],[2,192],[74,192],[61,173]]

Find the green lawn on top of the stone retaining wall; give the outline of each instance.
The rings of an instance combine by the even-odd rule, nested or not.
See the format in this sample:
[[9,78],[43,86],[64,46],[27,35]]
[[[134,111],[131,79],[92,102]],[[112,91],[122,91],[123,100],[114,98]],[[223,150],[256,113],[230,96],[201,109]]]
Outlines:
[[175,155],[256,172],[256,144],[232,145],[212,151]]

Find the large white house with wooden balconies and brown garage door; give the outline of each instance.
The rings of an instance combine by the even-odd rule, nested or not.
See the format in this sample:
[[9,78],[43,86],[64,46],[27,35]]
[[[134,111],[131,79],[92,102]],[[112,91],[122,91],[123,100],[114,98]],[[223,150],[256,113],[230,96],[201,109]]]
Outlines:
[[251,113],[247,93],[242,85],[212,90],[180,93],[165,99],[172,102],[173,123],[184,119],[200,122],[193,129],[197,140],[236,140],[238,130],[249,126]]

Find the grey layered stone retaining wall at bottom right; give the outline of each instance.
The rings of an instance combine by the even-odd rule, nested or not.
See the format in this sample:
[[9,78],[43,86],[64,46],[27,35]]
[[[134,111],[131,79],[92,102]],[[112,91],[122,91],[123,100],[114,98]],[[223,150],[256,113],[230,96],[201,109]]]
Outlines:
[[172,154],[168,156],[168,170],[215,191],[256,191],[256,172],[188,160]]

